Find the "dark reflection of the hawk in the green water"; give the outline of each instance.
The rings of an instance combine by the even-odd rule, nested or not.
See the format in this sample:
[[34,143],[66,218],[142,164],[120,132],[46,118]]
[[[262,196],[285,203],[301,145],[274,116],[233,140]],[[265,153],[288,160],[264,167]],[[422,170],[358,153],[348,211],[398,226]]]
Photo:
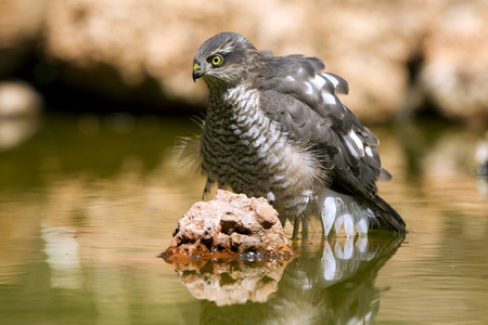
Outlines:
[[[400,234],[372,233],[322,247],[301,243],[266,303],[219,307],[203,300],[201,324],[374,324],[377,273],[402,240]],[[330,263],[336,265],[333,280],[324,272]]]

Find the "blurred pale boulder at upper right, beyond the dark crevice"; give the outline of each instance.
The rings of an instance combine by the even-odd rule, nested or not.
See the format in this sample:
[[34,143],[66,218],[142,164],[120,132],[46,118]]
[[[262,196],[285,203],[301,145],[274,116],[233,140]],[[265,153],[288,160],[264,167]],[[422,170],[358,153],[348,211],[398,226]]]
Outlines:
[[420,87],[450,119],[487,123],[488,1],[442,8],[423,42]]

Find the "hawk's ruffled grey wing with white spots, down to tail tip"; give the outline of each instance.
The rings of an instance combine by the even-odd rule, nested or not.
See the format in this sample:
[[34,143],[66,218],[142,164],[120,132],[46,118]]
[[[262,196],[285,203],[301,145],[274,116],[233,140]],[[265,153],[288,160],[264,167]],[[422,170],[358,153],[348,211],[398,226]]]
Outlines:
[[347,82],[322,72],[324,65],[316,57],[270,60],[254,72],[260,108],[291,139],[313,147],[326,170],[328,187],[369,203],[387,226],[404,232],[401,217],[376,194],[376,181],[391,178],[381,167],[377,138],[337,98],[347,93]]

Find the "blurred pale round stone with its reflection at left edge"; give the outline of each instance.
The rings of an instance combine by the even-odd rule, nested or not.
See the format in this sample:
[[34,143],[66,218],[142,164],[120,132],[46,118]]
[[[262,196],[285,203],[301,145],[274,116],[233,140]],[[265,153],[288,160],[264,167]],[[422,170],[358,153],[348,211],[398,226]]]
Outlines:
[[18,145],[38,129],[42,101],[24,82],[0,82],[0,151]]

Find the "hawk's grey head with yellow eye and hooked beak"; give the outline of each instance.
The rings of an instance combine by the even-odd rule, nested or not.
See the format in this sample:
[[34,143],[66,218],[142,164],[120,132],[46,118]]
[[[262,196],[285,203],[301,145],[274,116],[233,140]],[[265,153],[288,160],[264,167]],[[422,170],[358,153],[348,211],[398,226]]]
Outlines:
[[206,40],[193,58],[193,80],[208,88],[229,88],[242,82],[255,53],[253,44],[236,32],[220,32]]

